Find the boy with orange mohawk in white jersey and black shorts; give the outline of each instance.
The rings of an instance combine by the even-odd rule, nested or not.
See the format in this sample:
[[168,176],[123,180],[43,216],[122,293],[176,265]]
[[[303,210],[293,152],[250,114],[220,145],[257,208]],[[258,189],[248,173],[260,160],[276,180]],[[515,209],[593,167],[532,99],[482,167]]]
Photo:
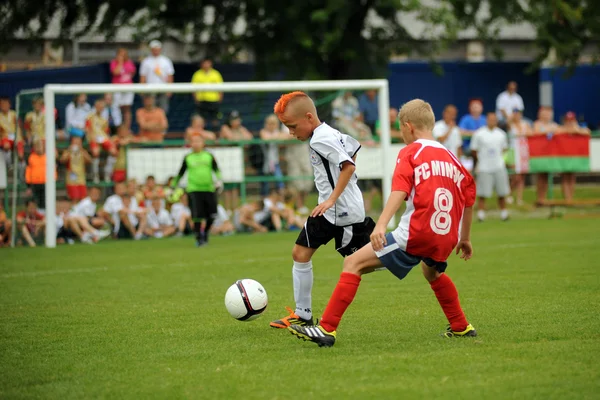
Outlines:
[[365,218],[365,207],[357,186],[358,141],[322,123],[312,99],[303,92],[284,94],[275,104],[275,114],[298,140],[310,140],[310,161],[319,192],[319,205],[300,232],[292,251],[294,300],[290,315],[271,322],[273,328],[291,324],[312,325],[312,256],[321,245],[335,239],[335,247],[348,256],[369,242],[375,223]]

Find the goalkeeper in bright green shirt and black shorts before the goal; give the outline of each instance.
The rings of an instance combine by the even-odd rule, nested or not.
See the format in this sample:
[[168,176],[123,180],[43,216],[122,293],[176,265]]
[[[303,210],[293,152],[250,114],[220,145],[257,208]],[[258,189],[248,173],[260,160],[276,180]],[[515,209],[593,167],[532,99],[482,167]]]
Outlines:
[[[190,200],[192,220],[194,221],[196,245],[203,246],[208,243],[208,233],[217,216],[216,192],[223,189],[223,181],[215,157],[204,149],[204,140],[199,136],[194,136],[191,145],[192,152],[183,159],[179,174],[171,184],[174,192],[169,201],[175,202],[178,197],[181,197],[183,191],[178,191],[176,188],[183,174],[187,171],[188,184],[186,191]],[[215,176],[216,180],[214,179]],[[202,224],[203,220],[206,221],[204,226]]]

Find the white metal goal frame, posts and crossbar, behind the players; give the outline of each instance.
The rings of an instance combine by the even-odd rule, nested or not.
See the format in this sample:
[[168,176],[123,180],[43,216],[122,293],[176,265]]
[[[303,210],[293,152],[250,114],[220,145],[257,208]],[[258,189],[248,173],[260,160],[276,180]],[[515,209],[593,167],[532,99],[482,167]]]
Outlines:
[[[381,158],[383,164],[383,199],[387,201],[392,187],[393,157],[390,154],[390,100],[387,79],[338,80],[338,81],[272,81],[272,82],[225,82],[222,84],[48,84],[44,86],[46,123],[46,247],[56,247],[56,180],[54,169],[56,136],[54,128],[55,95],[57,94],[101,94],[114,92],[134,93],[195,93],[195,92],[291,92],[326,90],[378,91]],[[360,162],[360,161],[358,161]],[[393,224],[393,219],[391,221]]]

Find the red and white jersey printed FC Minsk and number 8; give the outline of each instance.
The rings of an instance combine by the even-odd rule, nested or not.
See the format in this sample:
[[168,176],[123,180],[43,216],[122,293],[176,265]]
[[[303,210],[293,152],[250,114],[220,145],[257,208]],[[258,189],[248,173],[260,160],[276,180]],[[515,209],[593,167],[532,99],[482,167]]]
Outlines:
[[446,261],[458,244],[465,207],[475,203],[475,182],[443,145],[419,139],[400,150],[392,191],[408,193],[406,211],[392,232],[409,254]]

